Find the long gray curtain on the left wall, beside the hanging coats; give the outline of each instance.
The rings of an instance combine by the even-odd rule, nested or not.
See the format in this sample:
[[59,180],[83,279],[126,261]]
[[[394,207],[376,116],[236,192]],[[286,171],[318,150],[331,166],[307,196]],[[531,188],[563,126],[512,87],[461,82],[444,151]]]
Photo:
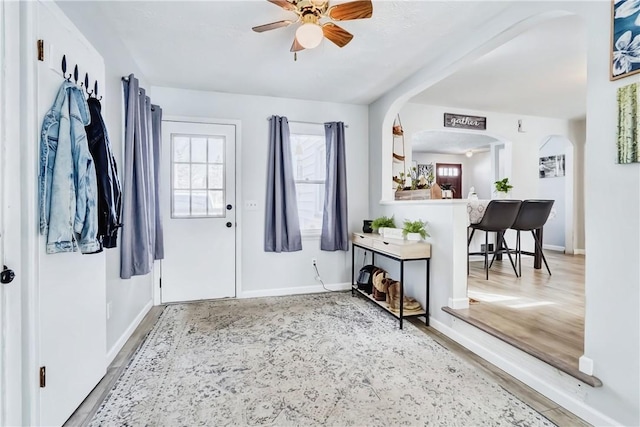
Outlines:
[[[156,209],[155,171],[159,168],[156,164],[159,156],[155,156],[154,147],[160,147],[160,141],[153,140],[151,101],[140,88],[138,79],[131,74],[128,81],[123,80],[123,88],[125,140],[120,277],[129,279],[150,273],[156,259],[156,224],[160,219]],[[159,132],[157,134],[159,137]]]

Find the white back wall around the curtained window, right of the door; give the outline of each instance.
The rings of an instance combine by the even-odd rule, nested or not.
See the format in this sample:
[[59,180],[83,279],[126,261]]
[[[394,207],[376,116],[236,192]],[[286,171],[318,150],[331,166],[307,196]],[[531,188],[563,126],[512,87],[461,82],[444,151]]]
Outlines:
[[[301,292],[317,287],[311,258],[317,258],[325,283],[349,282],[350,252],[320,251],[319,238],[303,238],[303,250],[291,253],[264,252],[264,202],[267,174],[268,121],[271,115],[290,121],[343,121],[345,129],[349,229],[361,230],[368,219],[369,200],[367,107],[264,96],[202,92],[153,87],[151,97],[162,106],[165,117],[189,116],[240,120],[237,142],[238,235],[241,263],[238,295],[261,296]],[[245,200],[258,202],[246,210]]]

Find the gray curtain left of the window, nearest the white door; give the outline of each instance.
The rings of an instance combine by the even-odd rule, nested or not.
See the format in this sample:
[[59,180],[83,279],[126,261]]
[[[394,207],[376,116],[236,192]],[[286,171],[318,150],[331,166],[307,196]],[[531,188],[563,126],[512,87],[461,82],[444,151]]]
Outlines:
[[265,252],[302,250],[296,185],[293,177],[289,122],[269,118],[267,200],[265,202]]

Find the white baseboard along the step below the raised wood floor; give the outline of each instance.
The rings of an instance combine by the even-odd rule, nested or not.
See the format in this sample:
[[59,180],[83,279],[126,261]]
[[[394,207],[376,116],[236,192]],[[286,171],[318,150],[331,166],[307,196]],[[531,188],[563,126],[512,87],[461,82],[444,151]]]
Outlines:
[[593,389],[582,381],[462,320],[452,322],[447,326],[431,317],[429,325],[585,421],[622,425],[584,402]]

